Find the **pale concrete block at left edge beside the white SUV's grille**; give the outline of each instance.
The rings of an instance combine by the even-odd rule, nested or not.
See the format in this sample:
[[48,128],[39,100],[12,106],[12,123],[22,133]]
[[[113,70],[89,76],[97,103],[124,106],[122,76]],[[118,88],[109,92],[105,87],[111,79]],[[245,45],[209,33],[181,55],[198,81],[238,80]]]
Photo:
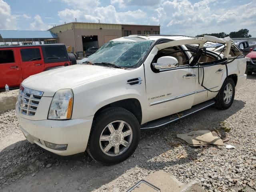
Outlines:
[[0,93],[0,113],[15,109],[19,90],[11,90]]

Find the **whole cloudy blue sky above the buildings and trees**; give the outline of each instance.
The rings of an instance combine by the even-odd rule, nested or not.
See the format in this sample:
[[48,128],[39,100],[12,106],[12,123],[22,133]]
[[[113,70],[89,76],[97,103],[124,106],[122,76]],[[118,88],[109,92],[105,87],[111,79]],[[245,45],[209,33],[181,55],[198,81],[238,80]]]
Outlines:
[[48,30],[75,18],[189,36],[247,28],[256,37],[256,0],[0,0],[0,30]]

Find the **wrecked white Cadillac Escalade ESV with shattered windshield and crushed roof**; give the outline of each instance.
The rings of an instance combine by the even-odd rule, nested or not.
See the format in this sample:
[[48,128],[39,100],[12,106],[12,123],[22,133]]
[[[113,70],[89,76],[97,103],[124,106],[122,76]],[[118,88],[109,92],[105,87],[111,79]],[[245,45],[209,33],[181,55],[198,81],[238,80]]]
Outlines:
[[82,64],[24,80],[16,114],[32,144],[61,156],[87,150],[115,164],[134,152],[141,130],[212,105],[229,108],[245,70],[229,37],[132,35],[104,44]]

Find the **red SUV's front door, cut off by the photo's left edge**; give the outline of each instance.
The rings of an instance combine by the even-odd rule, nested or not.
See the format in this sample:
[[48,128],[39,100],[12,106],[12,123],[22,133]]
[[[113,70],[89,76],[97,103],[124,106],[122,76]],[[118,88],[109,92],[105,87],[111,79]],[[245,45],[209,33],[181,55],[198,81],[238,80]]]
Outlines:
[[15,48],[0,49],[0,89],[6,84],[10,87],[19,86],[22,81],[16,51]]

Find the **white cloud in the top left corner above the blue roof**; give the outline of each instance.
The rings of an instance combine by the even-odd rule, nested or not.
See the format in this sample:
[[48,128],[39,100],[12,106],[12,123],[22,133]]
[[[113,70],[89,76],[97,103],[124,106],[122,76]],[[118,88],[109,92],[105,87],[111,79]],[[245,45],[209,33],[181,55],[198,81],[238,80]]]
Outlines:
[[2,30],[16,30],[16,17],[11,14],[10,6],[0,0],[0,29]]

